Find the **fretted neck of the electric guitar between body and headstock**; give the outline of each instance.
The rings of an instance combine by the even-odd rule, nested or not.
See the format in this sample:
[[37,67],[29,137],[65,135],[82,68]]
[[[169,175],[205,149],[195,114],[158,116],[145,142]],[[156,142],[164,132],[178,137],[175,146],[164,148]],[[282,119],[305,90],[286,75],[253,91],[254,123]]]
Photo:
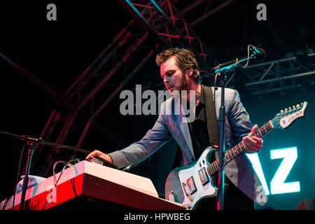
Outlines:
[[[268,132],[270,132],[272,129],[274,129],[274,126],[272,125],[272,122],[269,120],[269,122],[265,123],[265,125],[262,125],[258,130],[256,130],[251,137],[258,137],[261,138]],[[233,160],[237,157],[242,151],[244,151],[246,148],[243,144],[243,141],[239,142],[236,146],[231,148],[228,152],[225,153],[225,164]],[[210,175],[213,175],[216,173],[219,169],[219,159],[212,162],[211,165],[207,167],[207,170]]]

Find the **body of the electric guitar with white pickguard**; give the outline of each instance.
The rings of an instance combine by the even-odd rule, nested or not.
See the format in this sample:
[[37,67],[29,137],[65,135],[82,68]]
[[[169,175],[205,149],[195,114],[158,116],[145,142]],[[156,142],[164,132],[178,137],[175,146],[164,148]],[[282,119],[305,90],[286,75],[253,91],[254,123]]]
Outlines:
[[185,167],[177,167],[167,176],[165,199],[183,204],[187,209],[195,209],[206,197],[214,197],[217,188],[214,177],[209,176],[207,167],[209,158],[216,149],[208,147],[197,162]]

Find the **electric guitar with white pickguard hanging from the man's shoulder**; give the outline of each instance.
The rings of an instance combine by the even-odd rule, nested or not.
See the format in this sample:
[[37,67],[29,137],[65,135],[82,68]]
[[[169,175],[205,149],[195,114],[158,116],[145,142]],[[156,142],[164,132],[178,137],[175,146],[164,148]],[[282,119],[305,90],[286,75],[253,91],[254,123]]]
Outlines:
[[[275,128],[288,128],[297,118],[306,116],[309,105],[307,102],[297,104],[293,108],[281,110],[276,116],[260,127],[252,136],[261,138]],[[245,150],[242,141],[225,153],[225,165]],[[206,197],[214,197],[217,188],[214,185],[214,174],[218,172],[219,160],[210,163],[209,158],[216,148],[208,147],[193,165],[177,167],[167,176],[165,199],[178,202],[191,210]]]

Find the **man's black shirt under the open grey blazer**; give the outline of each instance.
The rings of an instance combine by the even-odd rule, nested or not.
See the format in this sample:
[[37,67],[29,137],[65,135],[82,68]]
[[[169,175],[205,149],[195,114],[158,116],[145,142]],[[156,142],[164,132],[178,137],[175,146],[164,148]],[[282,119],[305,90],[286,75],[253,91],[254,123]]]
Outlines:
[[[206,118],[206,106],[204,100],[205,91],[202,87],[200,93],[200,102],[196,106],[195,111],[195,120],[192,123],[188,123],[188,128],[190,132],[191,141],[193,144],[193,150],[195,154],[195,160],[200,158],[200,155],[205,148],[210,146],[208,127],[207,127],[207,118]],[[212,97],[212,96],[207,96]]]

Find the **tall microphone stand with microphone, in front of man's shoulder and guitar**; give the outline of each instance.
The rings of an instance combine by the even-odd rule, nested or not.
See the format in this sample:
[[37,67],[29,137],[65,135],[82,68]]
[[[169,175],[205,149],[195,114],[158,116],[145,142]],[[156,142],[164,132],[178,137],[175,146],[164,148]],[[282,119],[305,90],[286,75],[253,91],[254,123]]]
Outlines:
[[[225,124],[225,81],[226,81],[226,73],[229,72],[231,69],[234,69],[237,65],[240,65],[240,62],[244,62],[247,60],[246,67],[248,64],[249,59],[255,59],[258,55],[258,52],[255,52],[255,48],[252,48],[253,45],[248,45],[248,56],[243,57],[241,59],[234,59],[230,62],[225,62],[223,64],[218,64],[214,68],[211,69],[211,72],[216,73],[216,76],[221,77],[221,107],[220,107],[220,140],[219,140],[219,169],[218,169],[218,194],[216,197],[216,207],[217,210],[223,210],[224,208],[224,188],[225,188],[225,181],[224,181],[224,167],[225,167],[225,133],[224,133],[224,124]],[[252,50],[251,55],[249,54],[249,50]],[[260,60],[265,59],[265,51],[261,48],[259,49],[262,51],[262,56]],[[263,58],[262,58],[263,57]],[[215,88],[216,90],[216,79],[215,79]],[[214,93],[215,95],[216,93]],[[216,103],[215,103],[216,104]]]

